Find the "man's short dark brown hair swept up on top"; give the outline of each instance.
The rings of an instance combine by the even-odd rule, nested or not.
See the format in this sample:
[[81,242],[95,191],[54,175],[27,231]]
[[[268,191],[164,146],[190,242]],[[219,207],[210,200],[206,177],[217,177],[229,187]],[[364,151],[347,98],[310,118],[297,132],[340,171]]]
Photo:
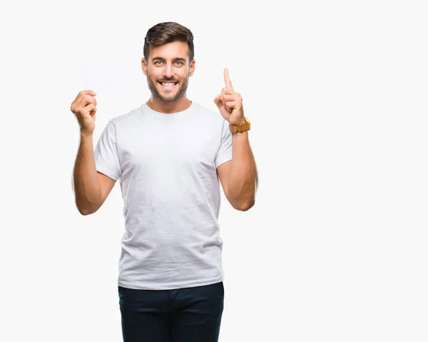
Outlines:
[[195,56],[192,31],[173,21],[159,23],[148,29],[146,38],[144,39],[144,58],[148,61],[148,55],[150,54],[152,46],[161,46],[163,44],[173,43],[174,41],[183,41],[188,44],[189,61],[191,63]]

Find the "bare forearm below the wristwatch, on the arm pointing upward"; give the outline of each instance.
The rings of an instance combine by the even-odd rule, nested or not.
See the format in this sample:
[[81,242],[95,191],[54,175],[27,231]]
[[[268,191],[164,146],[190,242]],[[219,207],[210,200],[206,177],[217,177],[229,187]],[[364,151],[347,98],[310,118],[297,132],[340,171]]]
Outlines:
[[254,205],[258,173],[248,131],[232,134],[233,159],[228,181],[228,193],[236,208],[248,210]]

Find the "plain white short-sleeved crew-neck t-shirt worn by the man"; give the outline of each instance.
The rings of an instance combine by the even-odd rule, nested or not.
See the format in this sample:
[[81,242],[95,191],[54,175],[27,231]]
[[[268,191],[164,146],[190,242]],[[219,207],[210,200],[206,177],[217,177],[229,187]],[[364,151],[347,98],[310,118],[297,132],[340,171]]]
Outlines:
[[228,125],[194,101],[173,114],[143,104],[108,121],[94,155],[97,171],[121,183],[119,286],[164,290],[223,281],[216,169],[232,159]]

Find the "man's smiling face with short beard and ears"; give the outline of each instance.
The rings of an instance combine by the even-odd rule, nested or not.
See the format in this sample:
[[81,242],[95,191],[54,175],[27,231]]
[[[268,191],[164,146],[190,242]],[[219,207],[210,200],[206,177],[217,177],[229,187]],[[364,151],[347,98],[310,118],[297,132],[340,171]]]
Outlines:
[[188,44],[183,41],[153,46],[148,60],[141,60],[141,66],[151,93],[163,102],[180,99],[195,71],[195,61],[189,61]]

